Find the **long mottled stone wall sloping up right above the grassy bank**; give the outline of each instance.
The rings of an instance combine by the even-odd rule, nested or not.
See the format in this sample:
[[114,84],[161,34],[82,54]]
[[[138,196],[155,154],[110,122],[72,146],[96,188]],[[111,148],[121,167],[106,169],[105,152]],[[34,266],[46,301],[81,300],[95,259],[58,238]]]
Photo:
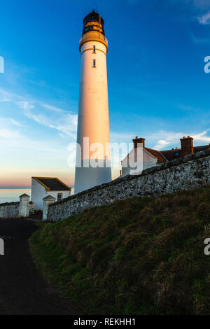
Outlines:
[[210,150],[187,155],[85,190],[50,204],[48,221],[59,221],[84,209],[111,204],[133,196],[158,196],[179,190],[202,188],[210,184]]

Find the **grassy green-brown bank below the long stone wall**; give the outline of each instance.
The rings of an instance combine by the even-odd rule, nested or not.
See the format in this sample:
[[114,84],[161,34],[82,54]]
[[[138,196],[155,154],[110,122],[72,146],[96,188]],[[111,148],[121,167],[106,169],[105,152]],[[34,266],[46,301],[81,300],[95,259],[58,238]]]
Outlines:
[[41,223],[31,253],[85,314],[210,314],[210,188]]

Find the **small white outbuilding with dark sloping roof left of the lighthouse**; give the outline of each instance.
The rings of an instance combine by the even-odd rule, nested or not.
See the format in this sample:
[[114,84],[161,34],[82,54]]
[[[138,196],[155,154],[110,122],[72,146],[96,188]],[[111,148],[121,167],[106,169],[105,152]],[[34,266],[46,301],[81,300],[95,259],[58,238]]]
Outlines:
[[43,210],[43,198],[48,195],[61,201],[71,195],[71,188],[57,177],[31,177],[31,201],[35,210]]

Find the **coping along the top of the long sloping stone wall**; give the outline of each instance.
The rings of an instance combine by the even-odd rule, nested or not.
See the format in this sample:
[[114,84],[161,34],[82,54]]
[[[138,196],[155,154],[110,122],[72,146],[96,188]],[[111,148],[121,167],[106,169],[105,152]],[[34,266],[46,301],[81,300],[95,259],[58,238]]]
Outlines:
[[185,157],[182,158],[178,158],[169,162],[165,162],[160,166],[155,166],[155,167],[151,167],[148,169],[145,169],[144,172],[142,172],[139,175],[127,175],[125,177],[119,177],[118,179],[115,179],[114,181],[110,181],[109,183],[104,183],[102,185],[99,186],[94,186],[94,188],[90,188],[88,190],[85,190],[83,192],[77,193],[76,195],[71,195],[70,197],[66,197],[64,199],[62,199],[61,201],[57,201],[54,202],[53,204],[50,204],[49,207],[54,207],[56,204],[62,204],[63,202],[67,202],[69,200],[73,200],[76,199],[78,197],[81,197],[82,195],[87,195],[89,193],[91,193],[92,191],[95,190],[102,190],[103,188],[107,188],[109,186],[114,186],[117,185],[118,183],[121,182],[125,182],[125,181],[131,181],[133,179],[138,179],[142,176],[147,176],[149,174],[154,174],[155,172],[160,172],[162,170],[171,168],[171,167],[175,167],[181,164],[184,164],[186,162],[190,162],[190,161],[196,161],[199,160],[201,158],[207,158],[210,155],[210,150],[206,150],[206,151],[200,151],[197,152],[195,154],[190,154],[190,155],[186,155]]

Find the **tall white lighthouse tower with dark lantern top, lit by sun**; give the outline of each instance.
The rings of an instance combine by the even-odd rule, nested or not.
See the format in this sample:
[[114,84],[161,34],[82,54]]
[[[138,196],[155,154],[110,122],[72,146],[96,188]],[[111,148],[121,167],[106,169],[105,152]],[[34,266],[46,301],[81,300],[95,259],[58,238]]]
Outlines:
[[109,102],[104,20],[92,10],[80,38],[80,94],[75,193],[111,181]]

